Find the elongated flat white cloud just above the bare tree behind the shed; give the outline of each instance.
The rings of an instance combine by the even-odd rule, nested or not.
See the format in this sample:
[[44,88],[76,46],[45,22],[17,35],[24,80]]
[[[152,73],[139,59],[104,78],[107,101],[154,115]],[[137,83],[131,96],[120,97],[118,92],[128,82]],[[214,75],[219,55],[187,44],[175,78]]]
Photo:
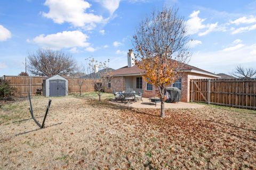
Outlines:
[[89,47],[87,43],[89,37],[81,31],[63,31],[51,35],[39,35],[33,41],[42,46],[51,49]]

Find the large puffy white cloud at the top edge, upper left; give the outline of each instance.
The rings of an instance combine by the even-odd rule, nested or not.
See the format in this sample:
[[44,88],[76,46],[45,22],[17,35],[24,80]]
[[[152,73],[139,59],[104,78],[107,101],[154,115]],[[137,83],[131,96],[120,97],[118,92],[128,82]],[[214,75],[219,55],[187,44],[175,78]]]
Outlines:
[[55,23],[68,22],[74,27],[92,30],[96,27],[96,23],[103,22],[102,16],[86,13],[91,4],[83,0],[46,0],[44,5],[50,10],[48,13],[43,12],[42,15]]

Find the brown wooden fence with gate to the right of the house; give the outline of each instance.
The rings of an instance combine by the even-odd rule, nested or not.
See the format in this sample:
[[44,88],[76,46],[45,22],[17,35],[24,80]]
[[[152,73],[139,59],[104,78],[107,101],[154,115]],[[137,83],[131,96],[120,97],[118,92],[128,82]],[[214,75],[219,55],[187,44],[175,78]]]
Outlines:
[[256,109],[256,79],[193,79],[190,101]]

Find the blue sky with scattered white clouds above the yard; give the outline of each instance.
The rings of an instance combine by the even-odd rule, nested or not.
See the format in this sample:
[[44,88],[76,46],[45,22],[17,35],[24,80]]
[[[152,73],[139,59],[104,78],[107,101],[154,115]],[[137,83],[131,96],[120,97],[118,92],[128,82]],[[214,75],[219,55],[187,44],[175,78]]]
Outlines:
[[236,65],[256,67],[255,0],[0,0],[0,76],[25,71],[38,48],[70,53],[79,64],[94,57],[123,67],[136,27],[163,6],[179,8],[186,21],[190,65],[227,74]]

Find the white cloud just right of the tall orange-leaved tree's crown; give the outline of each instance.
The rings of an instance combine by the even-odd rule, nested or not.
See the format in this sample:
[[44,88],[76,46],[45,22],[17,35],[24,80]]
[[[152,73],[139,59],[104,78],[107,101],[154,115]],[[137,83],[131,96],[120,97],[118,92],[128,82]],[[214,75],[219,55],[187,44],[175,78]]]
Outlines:
[[190,19],[187,21],[188,34],[193,35],[198,33],[198,36],[205,36],[212,31],[226,31],[225,27],[217,28],[218,22],[203,24],[206,19],[199,18],[199,13],[200,11],[198,10],[193,11],[193,13],[189,15]]

